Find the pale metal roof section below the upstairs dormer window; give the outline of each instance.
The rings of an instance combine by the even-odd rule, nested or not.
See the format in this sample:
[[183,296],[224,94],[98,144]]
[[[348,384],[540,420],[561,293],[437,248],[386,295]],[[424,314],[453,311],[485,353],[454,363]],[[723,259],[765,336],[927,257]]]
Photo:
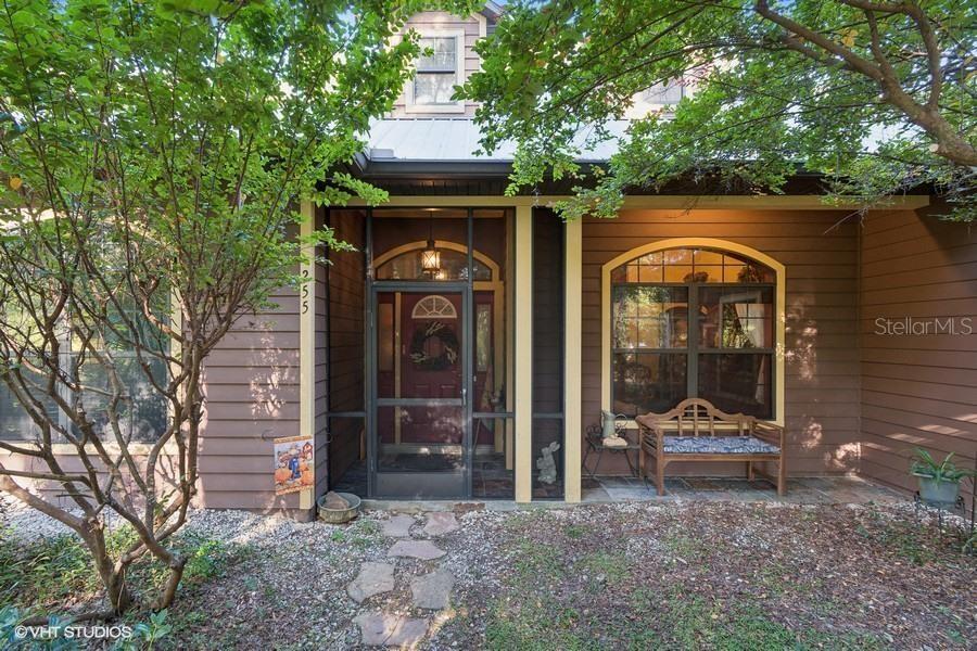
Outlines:
[[[623,136],[631,123],[614,120],[608,129],[616,137]],[[581,130],[578,139],[583,143],[589,135]],[[492,163],[511,162],[516,152],[513,142],[503,142],[490,155],[475,154],[480,130],[471,118],[388,118],[375,120],[368,136],[366,156],[373,162],[458,162]],[[598,143],[581,152],[581,162],[607,161],[617,150],[616,139]]]

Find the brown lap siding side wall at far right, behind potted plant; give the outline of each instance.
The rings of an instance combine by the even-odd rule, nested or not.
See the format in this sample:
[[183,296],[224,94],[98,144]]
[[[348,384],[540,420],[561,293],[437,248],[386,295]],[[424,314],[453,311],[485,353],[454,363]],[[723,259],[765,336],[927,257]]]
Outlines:
[[[862,472],[904,489],[913,448],[977,452],[977,234],[911,210],[861,235]],[[877,319],[970,322],[975,334],[878,334]]]

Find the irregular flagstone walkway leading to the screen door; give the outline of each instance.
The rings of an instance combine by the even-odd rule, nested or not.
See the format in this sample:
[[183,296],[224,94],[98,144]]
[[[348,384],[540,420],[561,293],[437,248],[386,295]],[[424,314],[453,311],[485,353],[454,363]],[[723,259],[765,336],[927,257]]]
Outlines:
[[[458,527],[451,512],[428,513],[423,527],[411,515],[403,514],[393,514],[381,523],[383,535],[395,539],[386,552],[388,562],[364,562],[356,578],[346,586],[350,598],[365,609],[353,620],[359,626],[363,644],[415,647],[428,635],[437,614],[451,608],[455,576],[441,565],[446,552],[430,538],[445,536]],[[422,565],[421,574],[408,572],[417,570],[418,563]],[[397,582],[398,574],[404,580]],[[410,616],[370,604],[372,597],[396,595],[398,588],[405,598],[407,590],[410,592]]]

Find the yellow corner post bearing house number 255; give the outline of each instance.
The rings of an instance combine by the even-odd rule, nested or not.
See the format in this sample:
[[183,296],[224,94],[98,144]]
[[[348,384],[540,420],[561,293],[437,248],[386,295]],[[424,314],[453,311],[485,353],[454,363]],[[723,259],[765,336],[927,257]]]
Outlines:
[[[316,207],[310,201],[302,202],[304,217],[300,232],[312,235],[316,228]],[[316,259],[315,248],[303,245],[308,258],[302,264],[301,273],[308,279],[299,288],[299,435],[312,436],[316,447]],[[313,459],[315,468],[315,459]],[[299,508],[313,508],[315,487],[299,493]]]

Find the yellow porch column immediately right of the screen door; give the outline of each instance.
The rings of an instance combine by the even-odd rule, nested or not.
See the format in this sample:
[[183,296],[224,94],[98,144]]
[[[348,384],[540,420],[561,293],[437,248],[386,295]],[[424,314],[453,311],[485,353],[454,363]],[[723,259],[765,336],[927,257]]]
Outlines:
[[516,501],[533,496],[533,208],[516,207]]

